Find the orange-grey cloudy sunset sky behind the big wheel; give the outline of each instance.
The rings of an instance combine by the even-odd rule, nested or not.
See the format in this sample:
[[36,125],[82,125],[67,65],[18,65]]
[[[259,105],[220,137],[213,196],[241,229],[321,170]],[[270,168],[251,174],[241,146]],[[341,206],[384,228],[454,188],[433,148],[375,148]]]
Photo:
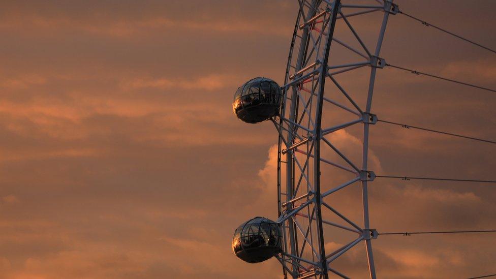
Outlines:
[[[494,2],[395,3],[496,47]],[[276,260],[248,264],[231,250],[239,224],[277,218],[277,133],[241,122],[231,105],[246,80],[284,82],[296,14],[282,0],[3,2],[0,278],[281,278]],[[381,56],[496,88],[496,55],[399,14]],[[373,112],[494,140],[495,104],[493,92],[385,68]],[[370,137],[381,174],[496,178],[488,143],[381,123]],[[335,140],[361,145],[352,132]],[[379,232],[496,229],[491,184],[370,184]],[[496,273],[492,234],[380,236],[373,247],[381,278]],[[363,245],[338,264],[364,277]]]

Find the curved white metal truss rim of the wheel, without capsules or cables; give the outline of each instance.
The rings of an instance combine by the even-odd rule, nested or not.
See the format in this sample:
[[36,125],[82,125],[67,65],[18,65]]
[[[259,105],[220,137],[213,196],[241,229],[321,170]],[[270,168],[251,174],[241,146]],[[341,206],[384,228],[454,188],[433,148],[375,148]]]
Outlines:
[[[369,126],[377,117],[371,114],[372,96],[376,71],[385,66],[380,50],[390,14],[397,6],[390,1],[370,0],[370,5],[352,5],[341,0],[297,0],[299,5],[293,39],[286,69],[284,101],[280,116],[272,119],[279,133],[278,144],[278,223],[282,225],[284,252],[277,257],[283,265],[285,277],[328,278],[328,272],[347,276],[332,268],[331,263],[360,242],[365,243],[371,278],[376,278],[371,239],[377,232],[370,229],[368,216],[367,181],[374,180],[373,171],[367,169]],[[349,2],[349,1],[343,1]],[[383,12],[382,24],[375,49],[369,48],[359,36],[350,17]],[[334,37],[336,21],[342,20],[355,42],[345,42]],[[353,46],[353,43],[356,46]],[[329,59],[333,48],[340,45],[352,53],[355,60],[349,63],[332,63]],[[370,67],[365,108],[355,102],[336,76],[362,67]],[[333,91],[344,97],[343,101],[327,96]],[[363,100],[365,101],[365,100]],[[323,118],[326,107],[342,110],[353,115],[348,121],[327,126]],[[363,124],[363,150],[361,167],[329,139],[332,133]],[[322,148],[332,150],[342,162],[325,158]],[[324,168],[337,168],[353,176],[348,181],[330,185],[321,184]],[[331,179],[332,181],[332,179]],[[349,185],[361,183],[363,224],[359,226],[340,213],[328,198]],[[342,224],[327,220],[324,216],[334,214]],[[346,225],[343,225],[346,224]],[[326,250],[332,236],[325,233],[325,226],[342,229],[355,234],[347,244]],[[365,255],[364,255],[365,256]]]

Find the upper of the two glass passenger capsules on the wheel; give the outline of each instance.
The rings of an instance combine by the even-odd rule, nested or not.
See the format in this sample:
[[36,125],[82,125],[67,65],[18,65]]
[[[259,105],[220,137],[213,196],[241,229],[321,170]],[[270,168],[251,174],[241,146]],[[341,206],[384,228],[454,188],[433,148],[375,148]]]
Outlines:
[[259,123],[279,114],[282,97],[281,87],[275,81],[254,78],[234,94],[233,111],[246,123]]

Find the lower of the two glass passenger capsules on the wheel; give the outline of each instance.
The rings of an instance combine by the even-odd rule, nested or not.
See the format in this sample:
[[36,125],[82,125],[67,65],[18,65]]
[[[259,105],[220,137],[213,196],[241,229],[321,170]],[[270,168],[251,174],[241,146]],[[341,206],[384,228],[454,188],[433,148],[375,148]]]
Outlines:
[[263,217],[241,224],[234,231],[232,249],[234,254],[248,263],[259,263],[282,251],[279,225]]

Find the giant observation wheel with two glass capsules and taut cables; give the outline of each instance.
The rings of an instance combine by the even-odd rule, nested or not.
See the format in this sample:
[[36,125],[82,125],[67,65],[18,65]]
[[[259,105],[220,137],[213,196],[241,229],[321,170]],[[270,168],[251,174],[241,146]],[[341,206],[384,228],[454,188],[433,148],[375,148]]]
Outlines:
[[[342,3],[343,2],[343,3]],[[341,0],[298,0],[298,14],[291,41],[284,85],[268,78],[254,78],[238,88],[233,111],[248,123],[270,120],[278,133],[277,206],[279,218],[271,221],[256,217],[241,224],[233,238],[234,253],[250,263],[272,257],[283,266],[285,278],[348,278],[334,263],[350,249],[363,245],[370,278],[376,278],[373,240],[381,232],[369,222],[368,187],[377,178],[436,179],[466,182],[492,180],[445,179],[376,174],[369,158],[369,129],[378,122],[409,129],[442,133],[471,140],[494,141],[409,126],[380,119],[373,113],[376,73],[394,67],[416,75],[456,82],[494,91],[461,81],[443,78],[404,67],[393,66],[381,55],[381,46],[390,16],[403,14],[442,32],[494,52],[445,29],[403,13],[391,1],[370,0],[353,4]],[[350,18],[376,15],[369,32],[361,37]],[[368,18],[366,19],[368,20]],[[496,52],[495,52],[496,53]],[[340,76],[356,78],[350,90]],[[363,83],[360,87],[358,83]],[[346,148],[346,130],[361,134],[359,146]],[[358,185],[357,187],[352,185]],[[361,200],[361,220],[334,206],[338,194],[355,187]],[[348,212],[349,213],[349,212]],[[352,221],[353,220],[353,221]],[[451,231],[416,233],[475,233]],[[412,234],[412,233],[404,233]],[[334,245],[339,238],[344,245]]]

